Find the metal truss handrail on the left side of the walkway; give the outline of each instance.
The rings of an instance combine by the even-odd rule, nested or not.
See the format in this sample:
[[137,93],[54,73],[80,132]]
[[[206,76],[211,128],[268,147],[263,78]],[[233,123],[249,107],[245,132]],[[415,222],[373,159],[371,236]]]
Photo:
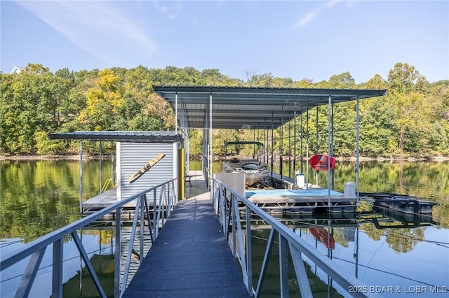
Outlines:
[[[108,206],[101,209],[91,215],[81,218],[76,222],[55,230],[45,236],[28,243],[27,246],[18,250],[17,252],[7,255],[1,258],[0,262],[0,272],[4,271],[8,267],[24,260],[25,257],[30,257],[25,272],[22,276],[22,280],[18,285],[18,289],[15,292],[15,297],[28,297],[29,292],[32,288],[34,279],[36,278],[37,271],[39,270],[39,265],[43,258],[43,254],[48,246],[53,244],[53,279],[52,279],[52,295],[51,297],[62,297],[62,262],[63,262],[63,242],[65,236],[72,236],[76,247],[83,257],[83,261],[86,264],[88,271],[90,272],[95,287],[98,289],[100,297],[106,297],[105,290],[103,290],[100,281],[98,280],[97,274],[93,268],[91,260],[88,258],[88,253],[83,246],[83,243],[78,235],[78,230],[90,225],[95,220],[98,220],[104,215],[115,212],[115,271],[114,271],[114,296],[121,297],[123,292],[126,290],[126,284],[128,280],[128,269],[130,267],[130,256],[133,249],[133,242],[135,238],[135,232],[137,230],[138,218],[140,218],[140,262],[143,260],[143,231],[145,228],[145,218],[147,219],[147,225],[149,228],[150,236],[152,241],[159,234],[160,227],[166,222],[166,218],[171,214],[173,208],[177,204],[177,192],[175,192],[175,180],[168,180],[164,183],[150,187],[138,194],[133,195],[127,199],[123,199],[116,204]],[[153,192],[153,217],[150,218],[149,205],[147,194]],[[159,201],[156,202],[156,193],[159,192]],[[121,260],[121,208],[131,201],[136,201],[135,213],[133,220],[133,227],[131,229],[131,239],[128,247],[128,254],[126,260],[125,276],[123,280],[120,281],[120,260]],[[159,203],[159,204],[156,204]]]

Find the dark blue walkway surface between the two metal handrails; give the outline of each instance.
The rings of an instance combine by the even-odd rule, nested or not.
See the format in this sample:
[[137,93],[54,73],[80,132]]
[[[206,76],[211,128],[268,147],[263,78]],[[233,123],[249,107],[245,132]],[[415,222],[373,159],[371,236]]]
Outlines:
[[124,292],[129,297],[250,297],[208,199],[177,204]]

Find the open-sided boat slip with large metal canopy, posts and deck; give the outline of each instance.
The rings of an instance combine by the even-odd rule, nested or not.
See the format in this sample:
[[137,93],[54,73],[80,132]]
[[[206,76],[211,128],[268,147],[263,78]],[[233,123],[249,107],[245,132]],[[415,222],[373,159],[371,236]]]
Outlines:
[[[279,139],[283,139],[283,129],[288,125],[288,139],[289,141],[293,139],[294,144],[291,154],[293,155],[293,173],[296,174],[298,171],[304,173],[304,177],[306,177],[304,185],[308,192],[300,192],[297,181],[291,177],[283,176],[281,167],[280,173],[271,170],[271,181],[275,181],[279,187],[293,190],[257,190],[257,192],[251,193],[250,199],[279,203],[279,208],[283,204],[286,207],[285,209],[293,212],[309,212],[318,206],[335,207],[334,211],[337,212],[354,211],[354,206],[358,201],[358,195],[356,194],[359,192],[359,100],[381,97],[386,94],[386,90],[156,86],[154,91],[173,107],[176,130],[182,131],[182,134],[187,136],[185,148],[188,148],[189,145],[189,129],[203,129],[203,173],[205,177],[209,178],[206,179],[206,183],[209,183],[213,176],[213,146],[220,146],[213,142],[213,129],[252,129],[254,139],[246,141],[264,143],[267,147],[267,162],[273,169],[274,159],[279,160],[279,164],[283,162],[282,145],[280,145],[281,148],[274,148],[274,130],[278,129]],[[355,183],[355,193],[354,196],[344,198],[342,194],[333,192],[333,170],[328,171],[326,185],[320,185],[327,187],[327,189],[316,192],[316,190],[309,190],[311,185],[307,180],[309,165],[306,164],[305,169],[302,166],[298,169],[297,164],[300,164],[304,159],[308,160],[313,154],[333,155],[333,134],[335,133],[333,129],[333,105],[347,101],[356,101],[354,126],[347,128],[347,130],[353,130],[356,134],[356,143],[354,144],[356,161],[354,162],[354,180],[347,181]],[[308,125],[303,124],[303,115],[308,121],[309,110],[316,108],[316,126],[318,127],[318,107],[324,105],[328,106],[328,125],[326,127],[328,146],[324,149],[324,152],[323,148],[321,148],[321,152],[317,152],[318,148],[316,148],[311,153],[309,152],[311,151],[309,148],[311,136],[309,136]],[[313,117],[315,118],[315,116]],[[299,119],[300,129],[297,131]],[[290,125],[294,127],[293,136],[290,136]],[[260,135],[262,138],[259,137]],[[316,132],[316,138],[318,139],[318,131]],[[280,143],[282,144],[282,142]],[[299,154],[297,154],[298,151]],[[275,157],[274,155],[278,156]],[[303,204],[304,206],[295,209],[289,205],[293,204],[291,201],[294,201],[294,204]],[[309,204],[314,206],[309,206]]]

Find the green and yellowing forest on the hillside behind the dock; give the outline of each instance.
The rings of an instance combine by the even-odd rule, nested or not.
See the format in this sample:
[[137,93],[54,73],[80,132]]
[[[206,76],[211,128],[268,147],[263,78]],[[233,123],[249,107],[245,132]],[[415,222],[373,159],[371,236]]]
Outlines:
[[[193,67],[148,69],[112,68],[92,71],[60,69],[52,73],[41,64],[28,64],[20,73],[0,73],[0,155],[69,155],[79,143],[51,141],[53,132],[78,131],[173,131],[171,106],[154,93],[155,85],[242,86],[290,88],[339,88],[387,90],[384,97],[360,101],[360,154],[364,157],[449,156],[449,80],[429,83],[414,66],[396,63],[387,78],[375,74],[366,83],[355,83],[351,73],[331,76],[314,83],[303,79],[278,78],[271,73],[245,71],[246,80],[230,78],[218,69]],[[308,119],[309,148],[326,150],[327,107],[312,109]],[[350,157],[355,148],[355,101],[335,105],[333,153]],[[302,117],[298,115],[299,119]],[[305,121],[307,119],[303,119]],[[298,125],[300,121],[296,121]],[[296,130],[295,130],[296,129]],[[281,130],[283,138],[281,139]],[[288,123],[273,132],[269,150],[282,155],[300,155]],[[190,129],[192,155],[201,155],[201,130]],[[213,131],[213,153],[221,155],[226,141],[262,141],[263,132],[248,129]],[[304,136],[304,134],[301,134]],[[285,137],[290,136],[290,138]],[[316,137],[315,137],[316,136]],[[268,143],[268,142],[267,142]],[[83,146],[91,154],[98,144]]]

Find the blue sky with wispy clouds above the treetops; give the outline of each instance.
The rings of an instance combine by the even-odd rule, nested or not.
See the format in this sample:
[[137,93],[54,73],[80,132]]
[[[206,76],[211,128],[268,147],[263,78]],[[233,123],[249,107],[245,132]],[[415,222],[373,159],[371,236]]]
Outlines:
[[0,70],[139,65],[356,83],[398,62],[449,79],[449,1],[4,1]]

